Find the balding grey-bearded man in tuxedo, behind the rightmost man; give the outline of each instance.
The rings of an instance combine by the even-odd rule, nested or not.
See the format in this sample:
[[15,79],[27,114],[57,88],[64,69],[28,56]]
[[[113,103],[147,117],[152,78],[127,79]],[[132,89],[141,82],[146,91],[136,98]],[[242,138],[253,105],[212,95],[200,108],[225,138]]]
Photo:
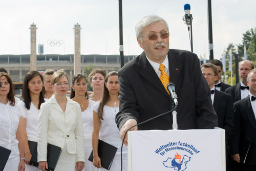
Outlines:
[[242,60],[239,62],[239,76],[240,82],[225,90],[231,95],[232,102],[236,102],[248,96],[249,88],[247,86],[247,75],[254,68],[254,63],[250,60]]

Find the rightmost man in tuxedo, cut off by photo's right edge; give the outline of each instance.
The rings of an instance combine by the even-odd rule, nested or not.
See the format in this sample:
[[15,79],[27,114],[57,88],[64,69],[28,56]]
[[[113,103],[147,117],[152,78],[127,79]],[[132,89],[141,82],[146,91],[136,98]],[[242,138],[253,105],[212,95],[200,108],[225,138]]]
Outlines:
[[245,161],[242,165],[243,170],[254,171],[256,170],[256,69],[248,74],[247,85],[249,95],[234,103],[234,134],[230,137],[230,151],[234,161],[238,163]]

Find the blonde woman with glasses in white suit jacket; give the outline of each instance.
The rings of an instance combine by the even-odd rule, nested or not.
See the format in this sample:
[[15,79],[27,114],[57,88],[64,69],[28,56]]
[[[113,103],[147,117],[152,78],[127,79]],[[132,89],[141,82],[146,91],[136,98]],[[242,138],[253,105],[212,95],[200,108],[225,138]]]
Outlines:
[[85,148],[81,109],[77,102],[67,98],[69,77],[59,70],[52,76],[54,95],[41,105],[38,115],[39,168],[46,170],[47,143],[62,148],[55,171],[82,170]]

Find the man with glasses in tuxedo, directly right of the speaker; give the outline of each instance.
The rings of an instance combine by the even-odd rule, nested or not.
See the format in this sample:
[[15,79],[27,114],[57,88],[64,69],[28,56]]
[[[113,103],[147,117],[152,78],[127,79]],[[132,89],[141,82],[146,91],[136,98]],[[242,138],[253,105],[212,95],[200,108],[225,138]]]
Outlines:
[[212,104],[218,116],[218,127],[225,130],[227,142],[233,133],[234,126],[231,96],[225,92],[216,90],[214,83],[218,79],[218,69],[215,65],[204,63],[201,65],[201,70],[211,90]]

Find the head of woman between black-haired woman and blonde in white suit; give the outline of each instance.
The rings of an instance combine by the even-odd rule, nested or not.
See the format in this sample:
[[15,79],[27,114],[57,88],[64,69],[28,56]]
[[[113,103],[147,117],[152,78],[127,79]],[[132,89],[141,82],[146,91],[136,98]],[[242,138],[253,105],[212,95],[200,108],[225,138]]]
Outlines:
[[51,84],[51,79],[54,72],[54,70],[46,70],[44,74],[42,74],[42,94],[44,94],[44,98],[46,99],[51,98],[54,93]]

